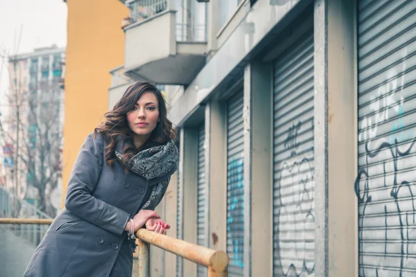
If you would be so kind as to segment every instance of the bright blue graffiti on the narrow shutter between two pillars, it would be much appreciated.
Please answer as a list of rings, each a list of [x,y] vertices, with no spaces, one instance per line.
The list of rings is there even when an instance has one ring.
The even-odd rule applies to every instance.
[[[228,164],[228,215],[227,215],[227,240],[231,242],[232,255],[229,265],[244,267],[244,161],[233,159]]]

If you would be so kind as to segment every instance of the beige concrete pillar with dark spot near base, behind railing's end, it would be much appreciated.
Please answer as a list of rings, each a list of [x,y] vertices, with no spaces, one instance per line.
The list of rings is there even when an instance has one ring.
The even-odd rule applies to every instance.
[[[226,106],[209,102],[209,248],[227,250]]]

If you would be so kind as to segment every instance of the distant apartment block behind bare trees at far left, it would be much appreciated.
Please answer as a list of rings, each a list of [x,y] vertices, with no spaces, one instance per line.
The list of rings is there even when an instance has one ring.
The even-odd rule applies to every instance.
[[[2,120],[6,187],[52,216],[62,198],[64,61],[55,45],[10,57]]]

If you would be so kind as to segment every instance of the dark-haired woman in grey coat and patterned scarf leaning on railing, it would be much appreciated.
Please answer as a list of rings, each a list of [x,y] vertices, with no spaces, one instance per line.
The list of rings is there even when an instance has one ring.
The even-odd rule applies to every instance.
[[[174,140],[159,89],[147,82],[130,86],[87,136],[65,208],[24,276],[131,276],[135,231],[170,228],[153,209],[177,168]]]

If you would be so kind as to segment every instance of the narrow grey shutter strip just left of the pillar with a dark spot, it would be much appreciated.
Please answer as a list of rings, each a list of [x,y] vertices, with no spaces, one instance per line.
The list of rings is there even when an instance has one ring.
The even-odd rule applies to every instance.
[[[198,217],[197,217],[197,235],[198,235],[198,244],[206,246],[206,218],[205,218],[205,125],[200,126],[198,130]],[[198,265],[198,277],[207,276],[207,268]]]

